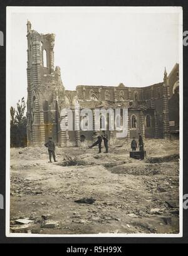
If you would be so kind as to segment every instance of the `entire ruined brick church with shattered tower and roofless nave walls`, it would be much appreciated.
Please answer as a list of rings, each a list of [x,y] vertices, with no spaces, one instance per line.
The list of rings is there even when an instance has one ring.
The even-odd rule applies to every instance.
[[[61,147],[90,144],[98,131],[61,131],[61,110],[80,108],[128,109],[128,136],[166,139],[179,136],[179,64],[161,83],[149,87],[114,87],[78,85],[75,91],[66,90],[61,80],[60,67],[55,67],[55,35],[43,35],[27,24],[28,38],[28,146],[43,146],[53,137]],[[93,127],[95,115],[93,115]],[[65,119],[68,118],[65,113]],[[117,140],[115,131],[106,131],[110,143]],[[122,138],[125,140],[127,138]]]

